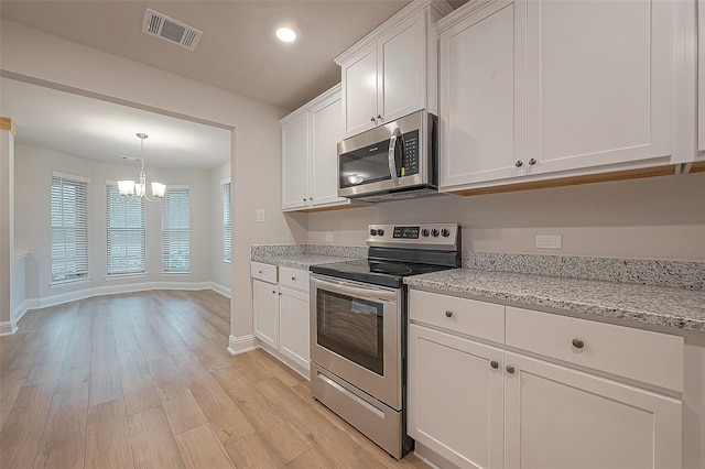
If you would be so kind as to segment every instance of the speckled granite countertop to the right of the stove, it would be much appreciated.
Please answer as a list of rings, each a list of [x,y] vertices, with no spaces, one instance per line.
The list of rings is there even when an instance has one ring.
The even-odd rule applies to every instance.
[[[455,269],[404,279],[411,287],[705,331],[705,291]]]

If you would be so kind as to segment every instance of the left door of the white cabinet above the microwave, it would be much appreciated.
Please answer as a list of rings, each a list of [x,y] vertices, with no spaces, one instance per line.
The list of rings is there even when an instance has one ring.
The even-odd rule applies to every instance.
[[[377,44],[370,44],[341,65],[345,135],[377,126]]]

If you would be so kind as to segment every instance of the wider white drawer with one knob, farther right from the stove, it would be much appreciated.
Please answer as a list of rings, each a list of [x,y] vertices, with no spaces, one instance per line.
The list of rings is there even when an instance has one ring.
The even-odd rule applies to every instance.
[[[507,345],[683,392],[679,336],[507,306]]]

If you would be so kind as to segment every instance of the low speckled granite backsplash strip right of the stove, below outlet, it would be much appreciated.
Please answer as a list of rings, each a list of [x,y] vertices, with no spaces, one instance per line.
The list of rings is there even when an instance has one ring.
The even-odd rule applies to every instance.
[[[705,262],[466,251],[463,265],[484,271],[705,290]]]

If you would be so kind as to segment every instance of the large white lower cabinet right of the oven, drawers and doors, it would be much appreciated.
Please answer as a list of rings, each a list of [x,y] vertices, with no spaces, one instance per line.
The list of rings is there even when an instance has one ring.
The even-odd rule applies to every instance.
[[[682,466],[682,402],[639,388],[631,377],[623,378],[630,381],[626,384],[614,375],[620,361],[634,360],[622,356],[639,350],[646,339],[647,359],[654,347],[664,353],[652,375],[639,375],[640,382],[682,389],[682,338],[498,306],[411,291],[410,436],[462,468]],[[492,323],[506,321],[505,340],[485,343],[489,331],[497,337],[494,327],[484,326],[491,324],[487,320],[476,323],[477,341],[473,330],[463,327],[466,318],[482,314],[497,316]],[[517,349],[522,330],[529,337],[522,342],[527,353]],[[621,343],[625,353],[606,347],[607,338]],[[560,346],[564,342],[565,352]],[[529,357],[542,347],[557,352],[545,359]],[[568,368],[574,366],[571,355],[585,356],[576,358],[575,366],[583,369]],[[603,361],[606,355],[614,360]],[[664,380],[663,367],[669,364],[675,373]]]

